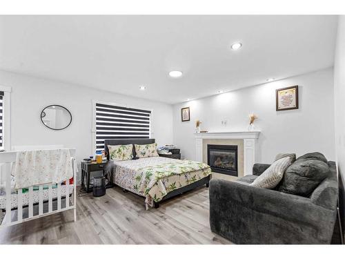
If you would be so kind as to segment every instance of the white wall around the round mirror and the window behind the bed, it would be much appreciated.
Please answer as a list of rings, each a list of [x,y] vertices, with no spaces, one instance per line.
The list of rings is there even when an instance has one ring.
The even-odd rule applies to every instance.
[[[92,155],[92,99],[152,109],[152,137],[156,139],[158,145],[172,143],[172,106],[170,104],[1,70],[0,85],[12,87],[12,146],[64,144],[77,148],[78,162],[89,157]],[[42,124],[41,110],[50,104],[65,106],[72,113],[72,124],[68,128],[52,131]]]

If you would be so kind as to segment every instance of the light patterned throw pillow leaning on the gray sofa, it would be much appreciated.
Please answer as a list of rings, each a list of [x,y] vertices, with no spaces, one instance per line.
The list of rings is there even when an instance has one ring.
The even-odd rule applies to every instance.
[[[274,162],[264,173],[262,173],[262,175],[259,175],[254,182],[249,185],[266,189],[275,188],[282,180],[284,172],[290,164],[290,157],[284,157]]]

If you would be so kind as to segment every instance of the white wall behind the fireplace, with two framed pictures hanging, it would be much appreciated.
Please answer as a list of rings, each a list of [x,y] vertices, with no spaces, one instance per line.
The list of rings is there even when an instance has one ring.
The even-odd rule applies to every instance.
[[[299,109],[275,111],[275,89],[299,86]],[[190,122],[181,122],[181,108],[190,106]],[[333,118],[333,68],[290,77],[259,86],[197,99],[174,106],[174,143],[188,159],[195,159],[195,120],[208,131],[248,129],[248,114],[259,119],[257,162],[273,162],[279,152],[302,155],[311,151],[335,160]],[[227,120],[227,126],[221,125]]]

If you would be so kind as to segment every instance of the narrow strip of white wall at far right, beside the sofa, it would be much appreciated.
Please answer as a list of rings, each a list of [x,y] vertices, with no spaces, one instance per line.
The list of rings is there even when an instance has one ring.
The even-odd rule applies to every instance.
[[[345,16],[339,16],[334,64],[335,149],[339,171],[340,209],[345,228]],[[345,231],[344,231],[345,232]],[[344,234],[345,236],[345,234]]]

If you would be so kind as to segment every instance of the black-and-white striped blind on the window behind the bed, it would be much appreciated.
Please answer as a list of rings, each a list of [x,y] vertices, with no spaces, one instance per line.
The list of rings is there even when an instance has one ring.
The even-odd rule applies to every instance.
[[[96,104],[96,151],[104,140],[150,138],[151,111]]]

